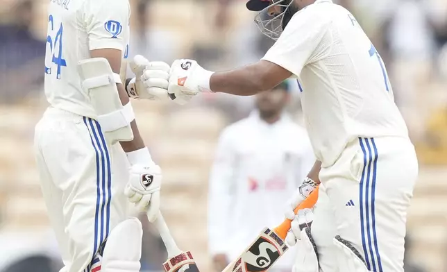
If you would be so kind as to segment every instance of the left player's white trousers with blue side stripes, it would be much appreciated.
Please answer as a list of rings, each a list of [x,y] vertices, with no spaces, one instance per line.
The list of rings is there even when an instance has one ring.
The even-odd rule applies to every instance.
[[[35,126],[35,157],[61,271],[88,272],[111,230],[128,218],[126,153],[106,143],[94,119],[50,107]]]

